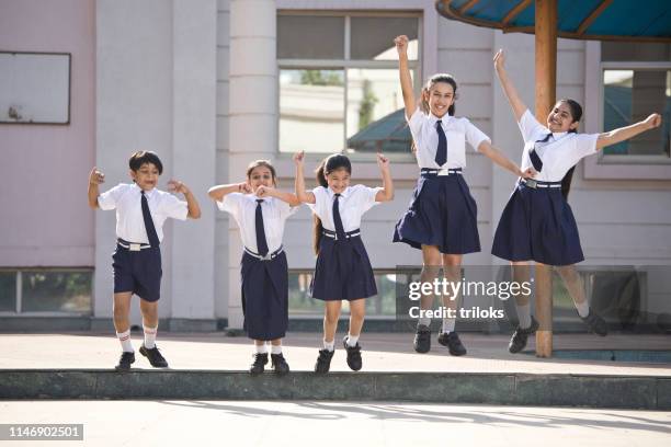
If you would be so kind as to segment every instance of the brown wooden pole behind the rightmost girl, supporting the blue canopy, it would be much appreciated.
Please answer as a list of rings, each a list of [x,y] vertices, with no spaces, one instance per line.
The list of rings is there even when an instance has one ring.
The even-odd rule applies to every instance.
[[[536,119],[545,123],[557,85],[557,0],[536,0]],[[536,264],[536,356],[553,355],[551,267]]]

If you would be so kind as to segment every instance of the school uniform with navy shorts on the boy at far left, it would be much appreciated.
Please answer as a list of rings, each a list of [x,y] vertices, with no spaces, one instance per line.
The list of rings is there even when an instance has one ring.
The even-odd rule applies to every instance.
[[[189,208],[174,195],[121,183],[98,196],[101,209],[116,209],[114,293],[132,291],[146,301],[161,296],[161,249],[168,218],[186,220]]]

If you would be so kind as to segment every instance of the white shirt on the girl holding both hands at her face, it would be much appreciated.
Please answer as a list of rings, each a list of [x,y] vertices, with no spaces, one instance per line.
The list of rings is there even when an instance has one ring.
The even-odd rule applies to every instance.
[[[229,213],[238,227],[240,227],[240,238],[242,244],[254,253],[259,253],[257,247],[257,197],[253,194],[230,193],[224,196],[224,200],[217,202],[220,210]],[[265,232],[265,243],[269,253],[282,247],[284,234],[284,222],[293,215],[298,207],[291,207],[284,200],[275,197],[264,197],[261,203],[261,214],[263,215],[263,231]]]

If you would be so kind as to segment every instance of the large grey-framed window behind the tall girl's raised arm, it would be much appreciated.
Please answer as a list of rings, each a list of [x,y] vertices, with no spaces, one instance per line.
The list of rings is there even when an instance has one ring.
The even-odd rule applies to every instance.
[[[380,148],[356,138],[380,118],[399,119],[389,116],[403,106],[393,42],[399,34],[410,39],[418,79],[419,14],[280,12],[280,151],[409,151],[409,140]]]

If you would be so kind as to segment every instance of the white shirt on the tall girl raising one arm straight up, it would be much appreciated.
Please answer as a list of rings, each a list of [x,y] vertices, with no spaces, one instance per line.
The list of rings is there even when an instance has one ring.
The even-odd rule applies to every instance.
[[[417,147],[417,163],[420,168],[455,169],[466,168],[466,142],[478,150],[480,142],[491,141],[485,133],[470,124],[467,118],[455,118],[444,115],[442,118],[433,114],[425,115],[420,107],[408,119],[410,133]],[[441,119],[441,126],[447,139],[447,162],[442,167],[435,162],[437,151],[437,130],[435,124]]]

